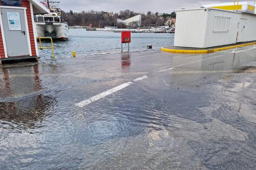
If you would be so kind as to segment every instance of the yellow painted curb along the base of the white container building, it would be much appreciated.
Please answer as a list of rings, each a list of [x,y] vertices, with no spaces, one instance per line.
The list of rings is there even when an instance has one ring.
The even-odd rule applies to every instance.
[[[227,50],[231,48],[236,48],[236,47],[243,47],[243,46],[248,46],[248,45],[254,45],[256,42],[253,43],[246,43],[246,44],[240,44],[240,45],[232,45],[228,47],[221,47],[221,48],[214,48],[214,49],[209,49],[209,50],[179,50],[179,49],[168,49],[162,47],[161,50],[165,52],[174,52],[174,53],[212,53],[212,52],[217,52],[221,50]]]

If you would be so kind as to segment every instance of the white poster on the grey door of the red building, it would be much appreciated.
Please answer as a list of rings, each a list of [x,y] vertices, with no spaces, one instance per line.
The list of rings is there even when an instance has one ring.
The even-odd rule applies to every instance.
[[[20,31],[20,13],[19,12],[7,12],[7,18],[10,31]]]

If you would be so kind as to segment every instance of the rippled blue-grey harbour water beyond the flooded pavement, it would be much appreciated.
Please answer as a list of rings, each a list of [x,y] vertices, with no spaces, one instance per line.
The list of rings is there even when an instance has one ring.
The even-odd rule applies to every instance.
[[[54,42],[56,57],[65,58],[72,56],[72,51],[77,55],[105,55],[121,52],[121,33],[104,31],[69,30],[70,37],[67,42]],[[163,46],[173,45],[174,34],[170,33],[131,33],[130,52],[147,50],[147,45],[153,45],[153,50],[160,50]],[[49,46],[49,42],[42,45]],[[124,51],[128,45],[123,44]],[[39,50],[40,57],[49,59],[50,49]]]

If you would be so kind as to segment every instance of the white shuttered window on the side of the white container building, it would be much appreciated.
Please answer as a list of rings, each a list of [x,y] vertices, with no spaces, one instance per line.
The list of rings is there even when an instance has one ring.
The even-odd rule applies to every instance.
[[[213,32],[228,32],[230,28],[230,17],[216,16],[214,21]]]

